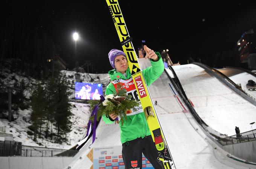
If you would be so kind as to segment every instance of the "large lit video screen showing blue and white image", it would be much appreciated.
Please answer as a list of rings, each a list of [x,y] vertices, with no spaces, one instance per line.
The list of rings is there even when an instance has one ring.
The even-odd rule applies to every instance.
[[[99,100],[102,95],[102,84],[75,83],[75,99]]]

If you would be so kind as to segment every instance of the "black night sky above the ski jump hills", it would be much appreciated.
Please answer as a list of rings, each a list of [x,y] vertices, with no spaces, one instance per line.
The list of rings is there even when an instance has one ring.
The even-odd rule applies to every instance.
[[[256,31],[256,2],[169,3],[119,1],[136,52],[145,40],[154,51],[169,49],[173,63],[186,64],[189,57],[198,61],[215,52],[233,49],[242,33],[251,28]],[[3,27],[7,20],[12,20],[46,31],[61,49],[59,55],[68,69],[73,69],[76,61],[79,66],[91,61],[96,63],[97,72],[106,73],[112,68],[108,52],[122,49],[105,0],[4,1],[1,9]],[[80,36],[76,48],[72,38],[75,31]]]

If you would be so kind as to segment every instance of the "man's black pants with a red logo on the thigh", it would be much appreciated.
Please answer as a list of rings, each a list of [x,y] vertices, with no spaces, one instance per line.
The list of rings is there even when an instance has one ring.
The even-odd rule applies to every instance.
[[[142,169],[142,153],[155,169],[162,169],[157,160],[158,154],[151,136],[137,138],[122,144],[122,156],[125,169]]]

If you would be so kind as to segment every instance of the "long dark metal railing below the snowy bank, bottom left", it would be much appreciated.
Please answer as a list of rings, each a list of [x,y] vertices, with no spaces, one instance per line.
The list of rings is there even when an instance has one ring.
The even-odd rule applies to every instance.
[[[73,157],[78,150],[33,147],[21,145],[21,142],[0,141],[0,156],[14,157]]]

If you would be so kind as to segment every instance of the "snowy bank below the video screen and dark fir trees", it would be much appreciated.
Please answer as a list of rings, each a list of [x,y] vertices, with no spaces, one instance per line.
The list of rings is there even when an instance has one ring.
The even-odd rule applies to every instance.
[[[76,102],[70,103],[72,104],[71,112],[73,114],[70,121],[72,121],[73,125],[71,132],[67,136],[68,142],[63,142],[62,144],[54,143],[50,139],[45,139],[44,133],[42,133],[43,138],[37,137],[37,142],[33,141],[33,136],[27,135],[27,131],[29,131],[28,126],[32,125],[29,121],[31,109],[26,109],[24,111],[19,110],[18,118],[12,122],[9,122],[6,119],[0,119],[0,126],[5,126],[6,133],[12,134],[14,136],[14,141],[22,142],[22,145],[70,149],[85,135],[90,116],[88,104]]]

